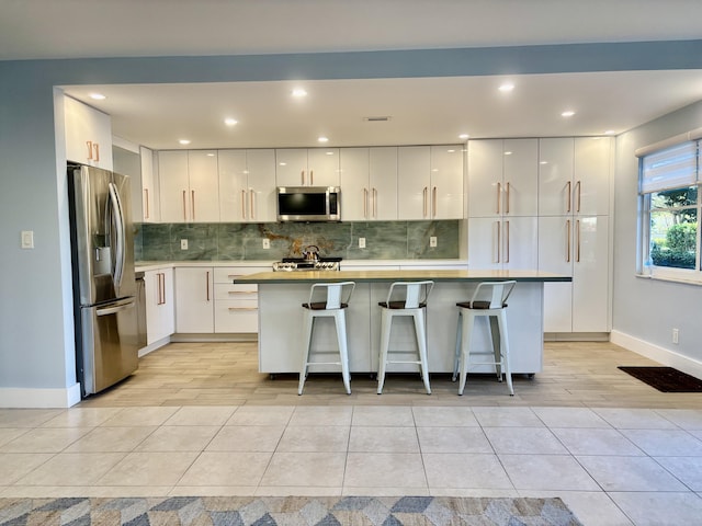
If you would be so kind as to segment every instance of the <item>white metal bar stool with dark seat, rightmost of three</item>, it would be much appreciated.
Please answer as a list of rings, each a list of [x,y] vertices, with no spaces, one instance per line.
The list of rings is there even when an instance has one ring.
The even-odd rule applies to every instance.
[[[460,365],[460,396],[463,396],[468,369],[474,365],[494,365],[499,381],[502,381],[502,371],[505,371],[509,395],[511,397],[514,396],[514,389],[512,388],[512,373],[509,364],[507,298],[512,293],[516,284],[517,282],[514,281],[483,282],[475,288],[469,301],[456,304],[456,307],[458,307],[458,327],[456,330],[456,354],[453,366],[453,381],[456,379]],[[488,317],[490,321],[492,351],[473,352],[471,350],[471,336],[473,335],[475,318],[480,316]],[[472,362],[471,355],[491,356],[492,359],[488,362]]]

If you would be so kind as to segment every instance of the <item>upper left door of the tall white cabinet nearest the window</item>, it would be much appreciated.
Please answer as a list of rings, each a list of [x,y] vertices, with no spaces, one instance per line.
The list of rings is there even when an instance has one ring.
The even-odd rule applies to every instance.
[[[571,138],[539,139],[539,215],[573,214]]]

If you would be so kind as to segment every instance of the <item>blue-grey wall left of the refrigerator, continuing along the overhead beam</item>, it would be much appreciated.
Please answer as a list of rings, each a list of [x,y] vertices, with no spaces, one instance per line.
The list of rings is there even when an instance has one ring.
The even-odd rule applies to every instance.
[[[691,68],[702,68],[702,41],[0,62],[0,404],[3,389],[60,390],[75,384],[65,152],[56,147],[63,144],[60,126],[58,137],[54,126],[56,85]],[[60,108],[57,113],[60,124]],[[34,250],[20,249],[22,230],[34,230]]]

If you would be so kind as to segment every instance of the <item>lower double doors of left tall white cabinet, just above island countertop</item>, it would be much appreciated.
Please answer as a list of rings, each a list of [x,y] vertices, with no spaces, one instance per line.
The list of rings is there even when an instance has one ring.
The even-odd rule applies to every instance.
[[[535,217],[469,218],[468,266],[482,270],[536,268],[537,226]]]

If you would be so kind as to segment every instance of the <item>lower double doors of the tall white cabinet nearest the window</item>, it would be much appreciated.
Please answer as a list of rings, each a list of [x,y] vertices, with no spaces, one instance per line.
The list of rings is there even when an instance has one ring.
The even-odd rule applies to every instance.
[[[539,219],[539,270],[571,276],[544,285],[544,332],[609,332],[609,217]]]

